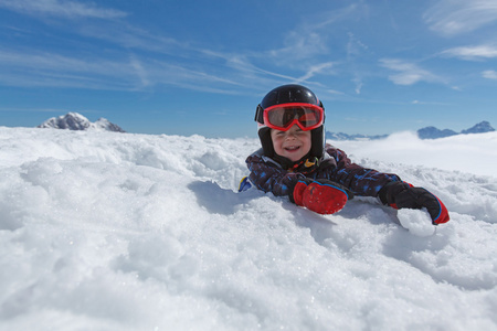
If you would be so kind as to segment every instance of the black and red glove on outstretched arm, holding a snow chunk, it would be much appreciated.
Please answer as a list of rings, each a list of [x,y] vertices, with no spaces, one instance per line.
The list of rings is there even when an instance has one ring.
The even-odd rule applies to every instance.
[[[421,210],[425,207],[434,225],[451,220],[444,203],[423,188],[414,188],[405,182],[390,182],[378,194],[383,204],[394,209]]]

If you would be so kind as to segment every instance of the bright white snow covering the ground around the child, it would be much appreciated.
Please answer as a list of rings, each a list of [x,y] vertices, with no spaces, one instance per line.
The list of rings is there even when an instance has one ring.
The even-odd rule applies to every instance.
[[[497,330],[496,141],[330,141],[435,193],[434,227],[235,193],[252,138],[0,127],[0,329]]]

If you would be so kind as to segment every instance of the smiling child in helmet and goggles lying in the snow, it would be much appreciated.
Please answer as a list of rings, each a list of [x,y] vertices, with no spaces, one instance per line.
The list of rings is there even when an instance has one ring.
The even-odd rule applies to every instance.
[[[246,163],[258,190],[288,196],[319,214],[340,211],[356,194],[379,197],[395,209],[425,207],[433,224],[448,222],[445,205],[425,189],[396,174],[362,168],[342,150],[325,145],[325,109],[307,87],[274,88],[257,106],[255,120],[262,149]]]

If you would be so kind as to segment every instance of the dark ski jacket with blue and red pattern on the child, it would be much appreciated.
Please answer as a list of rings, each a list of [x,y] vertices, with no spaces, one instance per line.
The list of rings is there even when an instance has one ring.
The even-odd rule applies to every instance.
[[[339,183],[359,196],[378,196],[378,192],[387,184],[401,179],[393,173],[383,173],[362,168],[347,157],[346,152],[327,143],[325,157],[309,171],[285,170],[281,163],[263,156],[260,149],[252,153],[246,163],[251,174],[250,181],[264,192],[276,196],[293,194],[293,188],[300,178],[327,179]]]

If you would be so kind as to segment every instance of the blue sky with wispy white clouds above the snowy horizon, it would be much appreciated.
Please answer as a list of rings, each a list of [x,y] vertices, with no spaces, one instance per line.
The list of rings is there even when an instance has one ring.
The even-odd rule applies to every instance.
[[[0,0],[0,126],[256,137],[262,97],[298,83],[328,131],[497,127],[496,28],[495,0]]]

